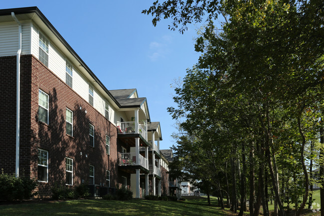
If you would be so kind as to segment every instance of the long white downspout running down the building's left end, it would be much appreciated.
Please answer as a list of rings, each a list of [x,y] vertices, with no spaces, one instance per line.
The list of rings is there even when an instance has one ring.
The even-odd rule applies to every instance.
[[[18,51],[17,51],[17,92],[16,92],[16,168],[15,175],[19,176],[19,146],[20,146],[20,53],[21,53],[21,23],[18,21],[14,12],[11,16],[18,24]]]

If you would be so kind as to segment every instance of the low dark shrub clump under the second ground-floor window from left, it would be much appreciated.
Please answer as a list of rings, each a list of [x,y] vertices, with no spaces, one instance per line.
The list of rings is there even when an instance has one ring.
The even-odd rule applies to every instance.
[[[55,186],[51,188],[51,191],[53,200],[77,199],[90,195],[89,188],[84,184],[76,186],[74,189],[67,188],[62,183],[60,185],[55,184]]]

